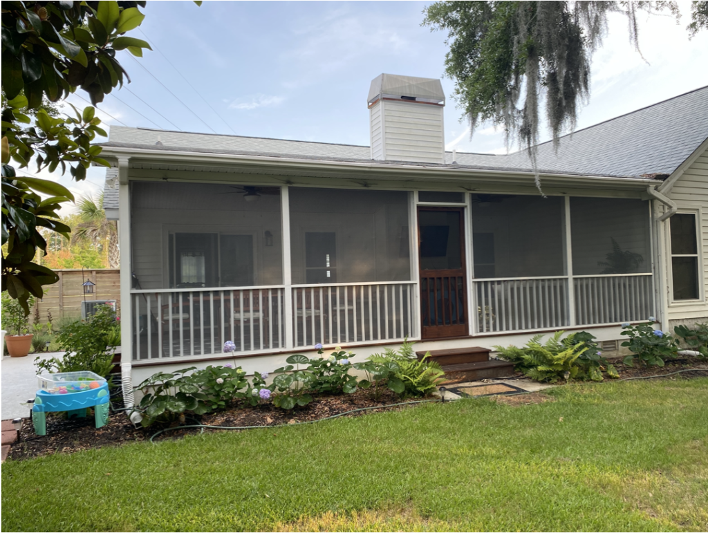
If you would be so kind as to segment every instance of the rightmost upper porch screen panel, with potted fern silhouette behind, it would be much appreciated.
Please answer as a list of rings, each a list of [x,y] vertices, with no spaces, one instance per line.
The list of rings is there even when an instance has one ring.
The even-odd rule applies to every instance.
[[[571,198],[573,275],[651,273],[649,207],[625,198]]]

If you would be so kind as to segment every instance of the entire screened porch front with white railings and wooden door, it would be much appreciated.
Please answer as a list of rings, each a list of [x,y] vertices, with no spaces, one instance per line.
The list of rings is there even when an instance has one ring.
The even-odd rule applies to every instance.
[[[130,212],[138,361],[653,311],[641,200],[135,181]]]

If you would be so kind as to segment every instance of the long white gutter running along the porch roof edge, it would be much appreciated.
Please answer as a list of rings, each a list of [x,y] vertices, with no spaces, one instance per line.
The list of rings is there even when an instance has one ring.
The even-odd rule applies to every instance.
[[[122,147],[103,147],[103,156],[130,156],[131,159],[142,159],[144,156],[150,156],[153,159],[167,161],[183,161],[186,160],[191,164],[197,161],[205,161],[211,164],[232,165],[238,161],[241,164],[256,164],[263,166],[265,164],[278,164],[291,168],[308,168],[316,166],[326,170],[364,170],[369,171],[389,171],[392,173],[406,172],[422,172],[425,171],[428,176],[430,172],[438,172],[442,176],[450,178],[450,174],[459,176],[460,174],[473,174],[474,176],[500,176],[512,178],[534,178],[535,173],[532,171],[502,171],[493,169],[476,169],[476,168],[450,168],[440,166],[427,166],[425,164],[380,164],[375,161],[322,161],[319,159],[297,159],[289,157],[273,157],[273,156],[245,156],[239,154],[204,154],[194,151],[165,151],[151,149],[135,149]],[[202,163],[203,164],[203,163]],[[578,174],[561,174],[561,173],[542,173],[542,177],[546,180],[572,180],[572,181],[604,181],[608,183],[622,183],[623,185],[636,185],[638,187],[646,187],[647,185],[656,184],[656,180],[651,178],[620,178],[617,176],[583,176]],[[459,176],[462,178],[462,176]]]

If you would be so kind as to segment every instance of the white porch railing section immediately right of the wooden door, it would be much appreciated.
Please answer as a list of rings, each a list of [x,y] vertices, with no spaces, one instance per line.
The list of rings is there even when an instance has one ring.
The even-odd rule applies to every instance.
[[[473,280],[477,333],[561,328],[570,323],[567,277]]]

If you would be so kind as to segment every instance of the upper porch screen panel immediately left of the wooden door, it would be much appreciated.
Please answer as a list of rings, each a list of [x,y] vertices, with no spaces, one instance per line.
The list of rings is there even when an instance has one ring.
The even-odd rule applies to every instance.
[[[292,282],[411,280],[408,193],[290,188]]]

